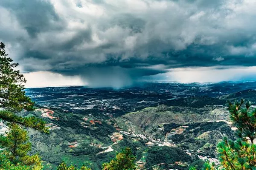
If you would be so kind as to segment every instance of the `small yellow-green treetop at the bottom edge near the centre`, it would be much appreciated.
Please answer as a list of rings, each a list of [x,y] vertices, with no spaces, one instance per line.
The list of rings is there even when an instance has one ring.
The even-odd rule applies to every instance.
[[[125,148],[116,155],[109,163],[103,164],[103,170],[136,170],[136,157],[130,148]]]

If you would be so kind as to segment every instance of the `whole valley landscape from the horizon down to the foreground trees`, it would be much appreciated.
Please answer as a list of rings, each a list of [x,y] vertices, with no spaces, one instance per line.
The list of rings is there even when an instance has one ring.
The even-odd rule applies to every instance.
[[[47,122],[50,134],[28,129],[32,153],[40,153],[45,169],[56,169],[64,160],[99,170],[116,152],[130,147],[141,170],[185,170],[206,159],[218,163],[218,141],[235,138],[227,99],[255,102],[253,89],[256,82],[31,88],[26,94],[37,109],[20,114]]]

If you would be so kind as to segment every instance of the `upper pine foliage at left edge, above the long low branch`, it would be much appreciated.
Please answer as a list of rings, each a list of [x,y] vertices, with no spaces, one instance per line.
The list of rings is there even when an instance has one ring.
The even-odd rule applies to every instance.
[[[0,42],[0,108],[8,111],[33,110],[32,100],[25,95],[26,79],[20,71],[15,70],[18,63],[8,57],[5,45]]]

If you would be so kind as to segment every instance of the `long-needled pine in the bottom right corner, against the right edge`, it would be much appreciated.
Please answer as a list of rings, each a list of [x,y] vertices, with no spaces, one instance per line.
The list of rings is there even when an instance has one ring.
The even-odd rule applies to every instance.
[[[250,102],[234,104],[229,102],[228,109],[233,125],[237,127],[238,139],[232,141],[224,137],[218,143],[217,152],[220,164],[206,162],[205,170],[256,170],[256,108],[251,107]],[[190,170],[195,170],[191,167]]]

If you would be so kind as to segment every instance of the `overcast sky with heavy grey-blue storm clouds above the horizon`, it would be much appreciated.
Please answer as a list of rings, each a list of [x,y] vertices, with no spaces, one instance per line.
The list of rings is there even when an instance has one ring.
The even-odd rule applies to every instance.
[[[256,80],[255,0],[0,0],[26,87]]]

